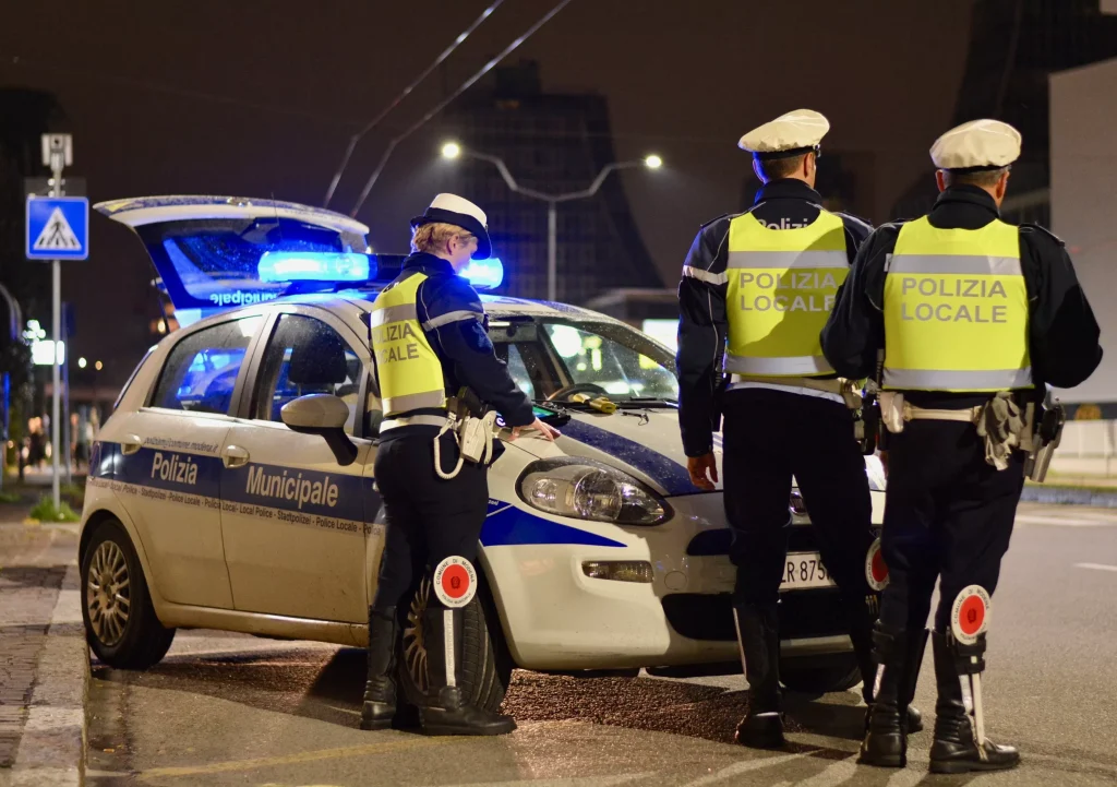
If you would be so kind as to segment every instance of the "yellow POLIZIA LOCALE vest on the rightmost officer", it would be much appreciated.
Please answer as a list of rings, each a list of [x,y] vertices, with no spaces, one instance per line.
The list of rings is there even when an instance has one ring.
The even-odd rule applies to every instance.
[[[1032,387],[1020,231],[900,228],[885,276],[884,387],[984,392]]]

